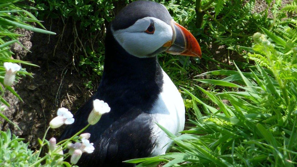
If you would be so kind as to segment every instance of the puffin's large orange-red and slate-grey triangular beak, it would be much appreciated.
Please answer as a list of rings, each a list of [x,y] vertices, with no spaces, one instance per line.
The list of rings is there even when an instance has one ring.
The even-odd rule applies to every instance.
[[[166,42],[163,46],[171,44],[169,49],[166,50],[170,54],[180,54],[185,56],[195,56],[201,58],[201,49],[195,37],[183,26],[175,21],[171,21],[173,30],[172,41]]]

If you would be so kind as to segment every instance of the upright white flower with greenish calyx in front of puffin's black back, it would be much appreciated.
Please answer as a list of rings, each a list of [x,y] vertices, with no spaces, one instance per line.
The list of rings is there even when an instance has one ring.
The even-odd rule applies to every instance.
[[[94,100],[93,106],[94,108],[88,117],[88,122],[91,125],[96,124],[100,120],[102,114],[108,113],[110,111],[110,107],[107,103],[104,103],[103,100]]]

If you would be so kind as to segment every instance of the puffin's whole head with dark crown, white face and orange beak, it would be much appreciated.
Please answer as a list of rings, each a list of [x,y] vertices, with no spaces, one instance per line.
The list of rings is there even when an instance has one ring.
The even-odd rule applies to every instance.
[[[110,29],[117,42],[136,57],[153,57],[166,51],[201,58],[195,37],[156,2],[132,2],[119,12]]]

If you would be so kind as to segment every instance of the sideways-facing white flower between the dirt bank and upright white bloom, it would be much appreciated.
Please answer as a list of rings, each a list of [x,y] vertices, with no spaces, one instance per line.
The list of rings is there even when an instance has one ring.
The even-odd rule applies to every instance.
[[[54,117],[54,119],[52,119],[50,122],[51,128],[57,128],[63,124],[72,124],[74,122],[72,113],[66,108],[59,108],[57,115],[58,116]]]

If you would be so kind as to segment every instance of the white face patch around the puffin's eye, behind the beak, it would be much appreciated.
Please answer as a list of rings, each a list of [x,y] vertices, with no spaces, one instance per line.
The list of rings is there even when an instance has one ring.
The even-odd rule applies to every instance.
[[[152,26],[154,31],[152,33]],[[145,17],[137,20],[132,26],[114,31],[118,43],[131,55],[136,57],[153,57],[154,53],[166,42],[172,41],[172,27],[160,19]]]

